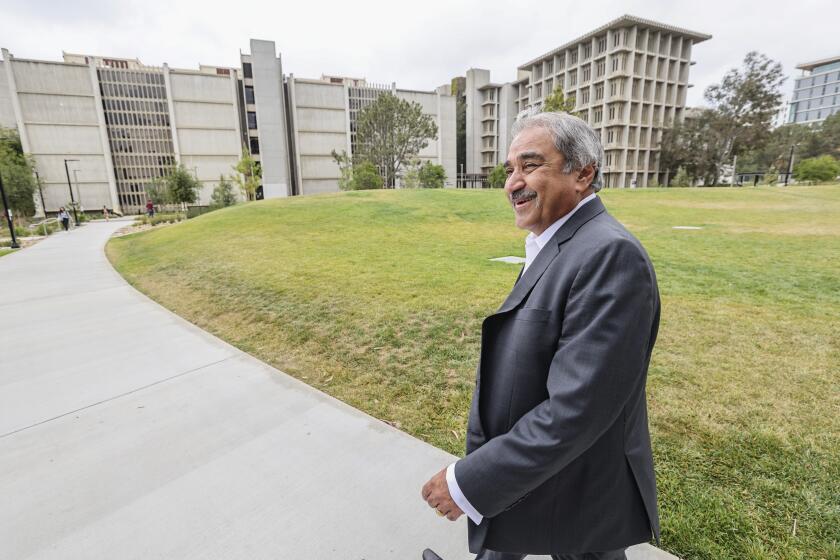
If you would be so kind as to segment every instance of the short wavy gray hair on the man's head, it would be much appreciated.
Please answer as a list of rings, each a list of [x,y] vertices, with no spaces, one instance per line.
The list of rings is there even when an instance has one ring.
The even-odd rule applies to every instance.
[[[528,128],[544,128],[554,141],[554,147],[563,154],[566,164],[564,173],[583,169],[587,165],[595,167],[595,177],[591,187],[595,192],[604,186],[601,162],[604,161],[604,147],[601,138],[586,121],[569,113],[540,113],[535,110],[522,111],[511,128],[511,138]]]

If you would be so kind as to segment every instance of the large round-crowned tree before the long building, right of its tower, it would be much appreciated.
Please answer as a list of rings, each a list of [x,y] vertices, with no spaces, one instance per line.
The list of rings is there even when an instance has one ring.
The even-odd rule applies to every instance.
[[[356,120],[354,159],[371,162],[383,174],[385,186],[393,188],[402,166],[437,139],[437,125],[423,113],[419,103],[382,93],[359,111]]]

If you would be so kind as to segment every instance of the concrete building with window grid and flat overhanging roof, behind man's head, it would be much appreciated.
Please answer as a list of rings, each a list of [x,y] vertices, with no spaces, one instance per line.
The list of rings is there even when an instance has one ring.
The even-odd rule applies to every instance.
[[[518,113],[541,106],[558,86],[574,113],[600,132],[608,187],[647,186],[659,173],[662,130],[683,119],[692,46],[710,35],[622,16],[517,68],[517,80],[490,83],[467,73],[467,173],[487,172],[510,145]]]

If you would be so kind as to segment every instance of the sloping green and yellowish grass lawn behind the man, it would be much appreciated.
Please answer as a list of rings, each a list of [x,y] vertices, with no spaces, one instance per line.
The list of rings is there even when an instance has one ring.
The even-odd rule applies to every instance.
[[[602,198],[662,293],[662,547],[840,558],[840,187]],[[367,191],[241,205],[108,254],[179,315],[460,455],[481,320],[518,273],[488,259],[524,255],[523,239],[500,191]]]

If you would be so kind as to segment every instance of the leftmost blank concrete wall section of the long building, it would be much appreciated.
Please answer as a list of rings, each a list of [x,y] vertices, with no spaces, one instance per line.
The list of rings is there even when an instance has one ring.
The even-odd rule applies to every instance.
[[[0,115],[8,122],[11,109],[24,149],[35,159],[47,211],[55,212],[70,201],[65,159],[79,160],[68,162],[68,168],[74,198],[81,200],[82,208],[113,208],[96,86],[89,67],[10,58],[2,70],[0,84],[5,87]],[[20,108],[19,118],[13,98]]]

